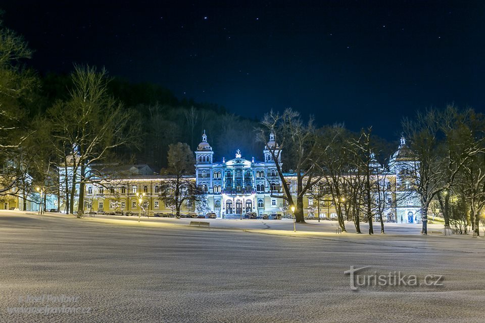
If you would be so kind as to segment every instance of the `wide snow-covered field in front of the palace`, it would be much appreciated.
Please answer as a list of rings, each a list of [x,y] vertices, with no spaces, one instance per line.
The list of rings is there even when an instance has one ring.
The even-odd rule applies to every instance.
[[[440,225],[369,237],[350,222],[337,235],[331,221],[294,233],[289,220],[194,220],[211,227],[0,211],[0,322],[485,322],[483,238],[443,237]],[[418,284],[352,291],[350,266]],[[17,313],[27,310],[79,312]]]

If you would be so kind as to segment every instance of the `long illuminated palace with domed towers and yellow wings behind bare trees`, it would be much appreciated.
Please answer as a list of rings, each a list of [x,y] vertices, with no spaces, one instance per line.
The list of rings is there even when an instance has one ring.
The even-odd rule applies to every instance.
[[[268,146],[279,151],[274,133],[270,133]],[[288,213],[283,195],[281,179],[272,159],[270,151],[263,149],[264,160],[257,161],[244,158],[236,150],[233,159],[214,161],[214,151],[210,146],[204,131],[202,142],[195,151],[196,174],[187,176],[196,181],[206,195],[205,212],[214,212],[218,218],[239,218],[254,212],[257,215],[277,214],[284,216]],[[386,221],[399,223],[416,223],[421,220],[421,206],[419,197],[413,191],[409,171],[415,166],[404,138],[401,139],[396,153],[391,157],[389,169],[384,169],[372,156],[372,168],[379,173],[381,180],[388,188],[381,197],[385,207],[383,217]],[[279,165],[282,166],[281,162]],[[105,212],[139,212],[138,195],[143,194],[143,212],[173,213],[173,209],[164,205],[160,198],[160,182],[171,178],[170,175],[157,175],[148,165],[99,165],[93,166],[89,172],[98,174],[92,183],[85,186],[85,210]],[[108,176],[108,174],[111,174]],[[295,173],[283,174],[290,190],[295,192],[293,180]],[[68,176],[72,176],[72,170]],[[349,174],[348,176],[354,176]],[[61,178],[61,188],[62,179]],[[78,196],[78,185],[75,187],[75,196]],[[61,190],[62,192],[62,190]],[[320,217],[336,217],[335,207],[325,202],[328,199],[317,201],[308,195],[304,198],[304,214],[318,216],[317,206],[320,203]],[[63,198],[61,196],[61,201]],[[328,203],[328,204],[327,204]],[[61,202],[61,205],[65,203]],[[77,204],[77,199],[75,204]],[[62,209],[62,208],[61,208]],[[75,209],[77,209],[75,207]],[[189,201],[182,205],[181,212],[196,212],[196,205]],[[200,211],[199,211],[200,212]]]

